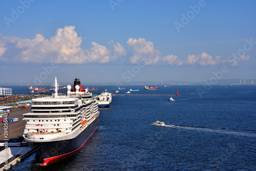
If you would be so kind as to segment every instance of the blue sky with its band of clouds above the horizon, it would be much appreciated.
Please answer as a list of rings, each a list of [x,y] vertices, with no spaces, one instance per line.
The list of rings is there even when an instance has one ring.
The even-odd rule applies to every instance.
[[[255,79],[255,5],[1,1],[0,83]]]

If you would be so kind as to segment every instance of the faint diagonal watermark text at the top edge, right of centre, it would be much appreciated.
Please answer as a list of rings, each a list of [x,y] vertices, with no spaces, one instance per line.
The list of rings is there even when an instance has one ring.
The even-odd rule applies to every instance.
[[[191,19],[195,18],[196,14],[198,14],[201,11],[201,8],[204,8],[206,6],[206,3],[204,0],[199,0],[198,1],[198,5],[195,6],[189,6],[189,8],[191,9],[190,11],[188,11],[185,14],[181,14],[181,20],[180,23],[179,22],[174,22],[174,26],[176,28],[176,30],[178,31],[178,33],[180,32],[180,28],[184,28]]]

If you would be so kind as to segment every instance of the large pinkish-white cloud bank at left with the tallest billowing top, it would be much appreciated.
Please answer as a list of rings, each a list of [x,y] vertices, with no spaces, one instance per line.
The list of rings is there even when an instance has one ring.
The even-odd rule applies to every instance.
[[[2,36],[0,39],[0,60],[12,59],[23,62],[50,62],[57,63],[107,63],[126,55],[125,49],[114,43],[114,51],[111,52],[105,46],[92,42],[92,48],[81,49],[82,39],[77,36],[74,26],[59,28],[53,37],[45,39],[37,34],[33,39],[21,39],[18,37]],[[12,48],[19,51],[17,56],[3,55],[6,44],[12,44]]]

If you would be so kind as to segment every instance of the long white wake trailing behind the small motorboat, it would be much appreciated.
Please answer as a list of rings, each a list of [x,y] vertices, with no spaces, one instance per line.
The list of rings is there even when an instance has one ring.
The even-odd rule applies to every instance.
[[[238,131],[229,131],[227,129],[221,128],[218,129],[209,129],[204,127],[193,127],[193,126],[178,126],[178,125],[164,125],[166,127],[172,127],[178,130],[191,130],[191,131],[200,131],[200,132],[210,132],[210,133],[218,133],[218,134],[229,134],[229,135],[237,135],[237,136],[245,136],[245,137],[253,137],[256,138],[255,133],[246,133],[246,132],[238,132]]]

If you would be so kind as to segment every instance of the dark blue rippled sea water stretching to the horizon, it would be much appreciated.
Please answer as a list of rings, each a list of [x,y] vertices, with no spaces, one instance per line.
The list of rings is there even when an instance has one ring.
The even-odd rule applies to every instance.
[[[115,86],[94,88],[94,94],[114,93]],[[176,95],[179,90],[181,96],[172,102],[170,96],[113,96],[111,107],[100,109],[98,129],[78,152],[47,166],[39,166],[32,154],[12,170],[256,169],[256,86],[124,88],[118,94],[139,89],[132,94]],[[157,120],[165,126],[152,125]]]

